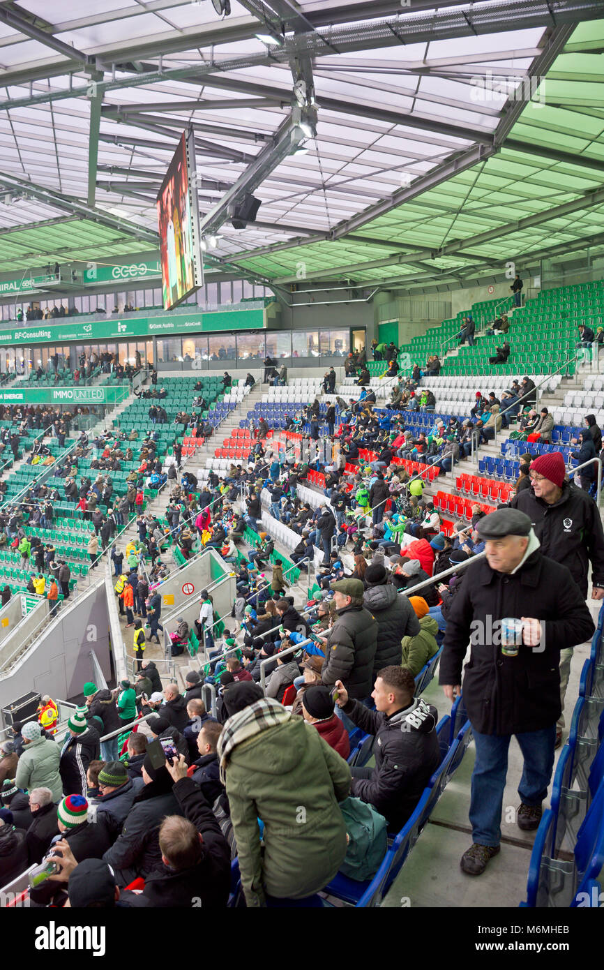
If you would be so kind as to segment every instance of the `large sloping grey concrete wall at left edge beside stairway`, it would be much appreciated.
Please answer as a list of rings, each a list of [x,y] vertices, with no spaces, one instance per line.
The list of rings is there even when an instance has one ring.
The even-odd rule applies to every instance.
[[[61,609],[14,670],[0,680],[0,707],[28,691],[63,700],[81,695],[83,684],[92,679],[90,650],[96,653],[109,683],[109,614],[102,582]]]

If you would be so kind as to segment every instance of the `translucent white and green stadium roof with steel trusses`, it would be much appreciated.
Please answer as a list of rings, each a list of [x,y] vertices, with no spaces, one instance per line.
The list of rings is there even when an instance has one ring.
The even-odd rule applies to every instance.
[[[0,271],[156,246],[190,127],[230,275],[404,287],[604,251],[601,0],[225,7],[0,2]]]

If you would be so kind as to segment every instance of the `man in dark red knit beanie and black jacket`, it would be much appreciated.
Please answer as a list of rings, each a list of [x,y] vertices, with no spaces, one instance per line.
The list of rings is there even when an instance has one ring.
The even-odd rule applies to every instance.
[[[559,451],[539,455],[530,463],[530,484],[510,505],[530,517],[544,556],[570,569],[586,599],[591,564],[591,598],[604,598],[604,532],[596,503],[567,479]],[[572,656],[572,648],[560,651],[562,711]],[[556,725],[556,748],[561,744],[563,727],[562,713]]]

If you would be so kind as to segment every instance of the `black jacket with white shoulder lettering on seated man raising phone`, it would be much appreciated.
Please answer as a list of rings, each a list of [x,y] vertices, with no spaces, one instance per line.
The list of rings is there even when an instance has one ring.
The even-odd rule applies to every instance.
[[[344,712],[375,735],[375,767],[370,778],[353,778],[351,795],[369,802],[397,832],[412,815],[429,777],[440,762],[438,712],[422,698],[391,717],[349,700]]]

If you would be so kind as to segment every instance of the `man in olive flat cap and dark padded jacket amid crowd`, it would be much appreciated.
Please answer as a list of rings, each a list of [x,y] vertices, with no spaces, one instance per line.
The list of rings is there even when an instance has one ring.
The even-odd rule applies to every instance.
[[[364,609],[365,586],[361,579],[338,579],[332,583],[335,621],[326,634],[322,682],[334,687],[341,680],[350,697],[363,700],[373,687],[373,660],[377,647],[377,620]],[[340,715],[340,709],[336,708]],[[346,720],[342,717],[344,726]]]

